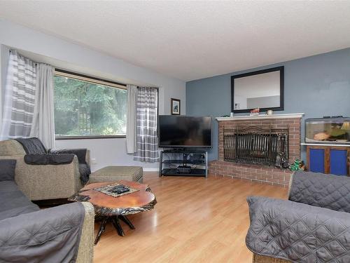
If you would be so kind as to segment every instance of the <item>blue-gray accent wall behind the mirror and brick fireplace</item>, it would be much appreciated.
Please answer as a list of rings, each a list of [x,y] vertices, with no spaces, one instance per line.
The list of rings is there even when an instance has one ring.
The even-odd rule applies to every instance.
[[[350,48],[246,69],[186,83],[186,114],[223,116],[231,112],[231,81],[236,74],[284,66],[284,111],[304,112],[304,119],[322,116],[350,116]],[[245,114],[237,114],[245,115]],[[304,141],[302,119],[302,142]],[[209,159],[218,159],[218,123],[214,121],[213,149]],[[306,161],[302,147],[302,159]]]

